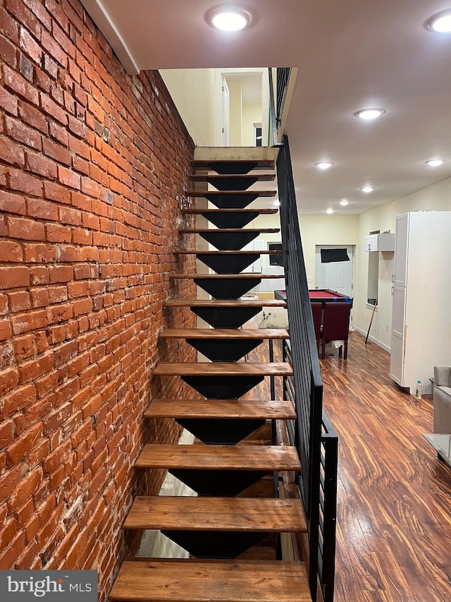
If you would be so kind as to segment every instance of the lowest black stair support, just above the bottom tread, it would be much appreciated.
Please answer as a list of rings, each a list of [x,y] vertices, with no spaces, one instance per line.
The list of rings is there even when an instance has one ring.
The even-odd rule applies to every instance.
[[[214,528],[214,525],[211,526]],[[195,558],[236,558],[256,543],[264,539],[268,533],[261,531],[168,531],[161,530],[163,535],[175,541]]]

